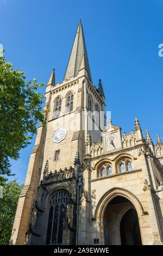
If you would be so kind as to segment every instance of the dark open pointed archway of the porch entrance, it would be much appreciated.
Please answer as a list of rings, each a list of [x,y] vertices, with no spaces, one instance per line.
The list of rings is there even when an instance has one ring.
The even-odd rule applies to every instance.
[[[134,205],[126,197],[114,197],[105,208],[105,245],[142,245],[139,220]]]

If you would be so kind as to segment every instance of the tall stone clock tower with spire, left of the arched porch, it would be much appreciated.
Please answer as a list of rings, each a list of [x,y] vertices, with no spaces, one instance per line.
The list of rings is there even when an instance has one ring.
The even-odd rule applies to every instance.
[[[46,126],[38,127],[30,155],[12,229],[14,245],[68,245],[78,240],[78,200],[84,186],[88,189],[82,164],[86,145],[89,137],[101,141],[105,125],[105,96],[101,80],[98,88],[92,84],[81,21],[64,80],[56,84],[53,69],[45,96],[44,109],[50,111]]]

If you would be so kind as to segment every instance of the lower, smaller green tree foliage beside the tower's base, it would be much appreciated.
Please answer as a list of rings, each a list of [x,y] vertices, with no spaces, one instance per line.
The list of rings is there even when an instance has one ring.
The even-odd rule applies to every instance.
[[[24,184],[15,180],[0,182],[3,187],[3,198],[0,198],[0,245],[8,245],[16,214],[18,198]]]

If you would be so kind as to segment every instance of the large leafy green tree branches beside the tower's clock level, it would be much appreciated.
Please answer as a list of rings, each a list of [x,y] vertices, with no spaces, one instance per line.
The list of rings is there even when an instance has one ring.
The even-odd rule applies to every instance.
[[[0,175],[12,175],[9,157],[17,160],[19,151],[30,144],[37,132],[36,124],[46,124],[41,111],[43,95],[35,92],[43,83],[26,82],[24,72],[14,70],[0,56]]]

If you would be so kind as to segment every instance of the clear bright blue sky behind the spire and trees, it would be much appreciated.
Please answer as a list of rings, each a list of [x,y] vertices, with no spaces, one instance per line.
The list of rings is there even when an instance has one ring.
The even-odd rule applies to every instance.
[[[112,124],[129,133],[137,117],[155,144],[156,135],[163,141],[162,14],[163,0],[0,0],[0,44],[27,80],[46,84],[55,68],[61,82],[81,18],[92,81],[102,80]],[[10,179],[25,181],[31,142],[11,161]]]

